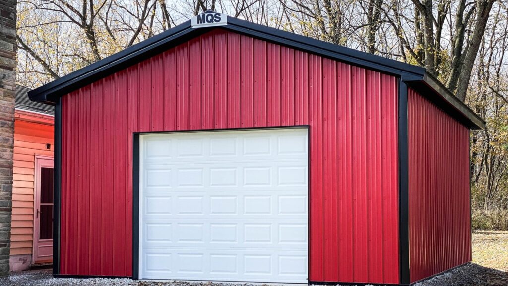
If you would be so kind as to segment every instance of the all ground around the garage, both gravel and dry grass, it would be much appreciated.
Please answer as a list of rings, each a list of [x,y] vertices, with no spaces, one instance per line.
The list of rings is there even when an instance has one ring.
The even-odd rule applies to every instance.
[[[473,261],[414,286],[508,286],[508,232],[475,232]],[[249,286],[248,283],[136,281],[128,278],[53,278],[50,269],[12,273],[1,286]],[[259,284],[257,285],[259,286]]]

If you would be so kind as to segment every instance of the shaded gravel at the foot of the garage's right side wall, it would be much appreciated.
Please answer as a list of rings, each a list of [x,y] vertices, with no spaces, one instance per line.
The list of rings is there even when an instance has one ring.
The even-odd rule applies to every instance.
[[[508,272],[469,263],[414,286],[507,286]]]

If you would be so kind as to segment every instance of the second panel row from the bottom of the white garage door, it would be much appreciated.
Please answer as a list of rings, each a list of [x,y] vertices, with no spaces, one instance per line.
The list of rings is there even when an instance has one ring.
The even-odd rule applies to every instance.
[[[295,248],[307,244],[302,219],[146,219],[143,247]],[[221,246],[222,245],[222,246]]]

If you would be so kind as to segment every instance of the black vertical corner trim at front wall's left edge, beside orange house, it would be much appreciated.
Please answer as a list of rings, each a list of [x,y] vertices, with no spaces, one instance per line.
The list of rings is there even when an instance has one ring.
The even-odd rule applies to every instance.
[[[61,98],[55,105],[53,173],[53,276],[60,273]]]

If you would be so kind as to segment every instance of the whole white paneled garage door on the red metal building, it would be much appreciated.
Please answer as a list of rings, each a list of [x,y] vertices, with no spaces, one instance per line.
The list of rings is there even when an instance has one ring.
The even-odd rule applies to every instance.
[[[142,135],[140,278],[307,282],[307,130]]]

